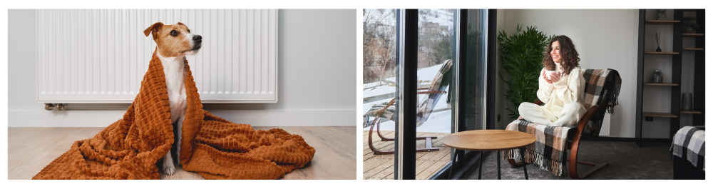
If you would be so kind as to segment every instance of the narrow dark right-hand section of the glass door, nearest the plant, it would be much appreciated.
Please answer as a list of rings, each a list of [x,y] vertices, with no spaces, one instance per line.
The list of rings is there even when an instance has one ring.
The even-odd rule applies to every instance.
[[[453,131],[494,128],[495,107],[495,24],[496,11],[461,9],[458,11],[458,57],[461,59],[454,76],[458,85],[458,111]],[[432,179],[461,179],[481,160],[475,151],[453,150],[456,160],[449,163]],[[452,170],[452,171],[451,171]]]

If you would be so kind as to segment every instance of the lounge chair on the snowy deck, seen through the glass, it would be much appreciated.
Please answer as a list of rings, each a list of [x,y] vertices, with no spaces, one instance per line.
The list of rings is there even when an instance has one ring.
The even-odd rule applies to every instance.
[[[416,127],[421,126],[421,124],[425,123],[426,120],[428,120],[429,116],[431,115],[431,112],[434,111],[434,106],[436,106],[436,103],[441,98],[443,93],[446,93],[446,88],[448,86],[448,83],[450,83],[448,82],[450,81],[450,78],[446,78],[446,80],[444,80],[444,76],[450,76],[450,74],[446,73],[448,73],[448,71],[451,71],[451,64],[451,60],[443,61],[443,66],[441,66],[441,69],[438,71],[438,73],[436,73],[434,80],[431,81],[431,86],[429,86],[428,88],[417,88],[417,90],[419,91],[417,92],[417,94],[427,94],[429,98],[426,98],[426,100],[420,103],[417,107]],[[393,98],[388,103],[375,104],[374,106],[371,106],[371,109],[369,109],[366,114],[364,114],[364,126],[371,126],[369,128],[369,148],[376,155],[394,153],[394,150],[379,150],[374,148],[374,143],[371,140],[371,135],[374,131],[374,125],[376,125],[376,134],[379,136],[379,138],[381,138],[381,141],[394,141],[394,138],[387,138],[381,135],[381,132],[379,131],[379,126],[381,124],[381,118],[388,118],[391,121],[394,121],[394,119],[396,119],[396,116],[394,116],[395,108],[394,106],[391,106],[394,104],[395,101],[396,98]],[[369,121],[370,117],[374,117],[374,120]],[[434,148],[431,145],[431,140],[436,138],[436,136],[416,137],[416,140],[426,140],[426,148],[417,148],[416,152],[438,151],[438,148]]]

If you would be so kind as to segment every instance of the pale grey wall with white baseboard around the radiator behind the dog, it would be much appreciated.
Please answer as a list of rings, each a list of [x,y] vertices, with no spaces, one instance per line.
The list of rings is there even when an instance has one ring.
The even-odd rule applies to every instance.
[[[204,104],[252,126],[356,126],[361,83],[356,10],[279,10],[277,103]],[[45,111],[35,93],[35,11],[8,11],[10,127],[104,127],[128,104],[68,104]],[[204,52],[205,53],[205,52]],[[148,61],[148,60],[147,60]],[[359,85],[360,86],[360,85]]]

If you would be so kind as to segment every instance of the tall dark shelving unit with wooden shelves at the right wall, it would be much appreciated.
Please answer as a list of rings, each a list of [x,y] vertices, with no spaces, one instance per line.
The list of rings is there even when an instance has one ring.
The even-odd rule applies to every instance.
[[[637,59],[637,73],[639,74],[639,83],[637,83],[639,90],[637,91],[637,96],[636,98],[639,99],[640,101],[639,104],[637,104],[637,111],[636,113],[640,115],[640,117],[637,118],[636,124],[635,124],[635,132],[637,136],[637,145],[639,147],[642,147],[642,134],[645,134],[642,132],[642,130],[646,130],[645,126],[651,125],[651,124],[646,124],[645,121],[655,121],[655,122],[650,122],[650,123],[658,123],[656,125],[661,125],[662,127],[657,127],[657,128],[650,128],[654,129],[654,133],[660,132],[660,133],[669,133],[670,138],[674,138],[674,134],[676,131],[679,130],[680,126],[684,126],[684,124],[687,123],[682,123],[679,118],[689,118],[692,117],[693,124],[695,125],[703,125],[704,124],[704,117],[705,113],[703,113],[705,110],[702,108],[698,108],[699,110],[690,110],[690,111],[683,111],[682,109],[679,109],[678,107],[681,106],[682,102],[682,95],[676,95],[676,93],[681,94],[682,93],[682,86],[684,86],[684,83],[689,84],[694,86],[692,89],[694,89],[694,96],[697,96],[697,102],[701,102],[701,99],[705,95],[705,82],[695,82],[695,83],[690,83],[686,82],[687,77],[694,77],[695,81],[704,81],[705,78],[700,78],[700,77],[705,77],[705,71],[702,68],[699,68],[699,66],[704,65],[705,63],[705,57],[700,56],[701,53],[704,53],[704,46],[693,46],[690,45],[688,47],[690,48],[685,48],[687,42],[695,42],[695,44],[704,44],[704,40],[706,39],[705,36],[705,22],[702,20],[697,21],[697,24],[701,27],[699,31],[691,31],[691,33],[699,33],[699,34],[683,34],[684,30],[683,29],[683,24],[684,23],[684,17],[686,16],[694,16],[694,17],[699,17],[698,19],[703,19],[701,18],[702,15],[705,15],[705,9],[674,9],[674,10],[669,10],[673,11],[674,14],[669,14],[673,15],[668,18],[668,20],[655,20],[655,15],[650,15],[652,13],[656,13],[655,11],[651,9],[639,9],[639,19],[637,21],[637,24],[640,24],[639,30],[638,30],[638,37],[640,39],[648,39],[652,32],[657,32],[658,29],[662,29],[662,31],[665,31],[665,34],[668,36],[672,36],[673,39],[672,41],[665,42],[665,44],[668,44],[668,48],[665,48],[664,50],[667,50],[665,52],[656,52],[656,51],[662,51],[661,49],[654,50],[656,49],[656,46],[654,48],[645,48],[645,40],[640,40],[637,41],[637,46],[638,46],[638,59]],[[650,20],[647,20],[645,18],[650,18]],[[663,18],[662,18],[663,19]],[[659,26],[654,26],[654,25],[659,25]],[[663,26],[660,26],[663,25]],[[652,30],[653,29],[653,30]],[[690,30],[689,30],[690,31]],[[655,44],[654,44],[655,45]],[[650,45],[649,45],[650,46]],[[643,56],[642,56],[643,54]],[[649,55],[655,55],[655,56],[649,56]],[[686,54],[687,57],[694,57],[694,58],[688,58],[690,60],[686,60],[682,54]],[[672,56],[675,55],[675,56]],[[646,83],[650,82],[650,80],[645,77],[644,75],[647,75],[645,73],[645,67],[647,67],[647,63],[650,62],[650,58],[657,59],[657,61],[661,61],[661,63],[668,62],[672,63],[670,70],[674,71],[672,74],[667,75],[671,76],[672,80],[667,80],[668,82],[671,83]],[[689,63],[689,61],[692,61],[692,63]],[[666,65],[669,65],[666,63]],[[691,71],[682,71],[682,68],[685,66],[683,65],[692,65],[694,66],[694,69]],[[695,76],[691,76],[692,73]],[[644,79],[641,79],[644,78]],[[642,88],[643,87],[643,88]],[[656,96],[655,98],[652,99],[646,99],[648,96],[650,96],[650,93],[647,93],[647,89],[652,89],[652,88],[660,88],[660,92],[665,92],[668,91],[670,88],[672,91],[672,95],[670,97],[664,97],[664,96]],[[688,92],[688,91],[687,91]],[[657,92],[658,93],[658,92]],[[666,92],[668,93],[668,92]],[[645,98],[645,100],[642,100],[642,98]],[[705,98],[703,98],[705,99]],[[704,101],[704,100],[703,100]],[[668,108],[662,108],[662,109],[649,109],[648,111],[658,111],[658,112],[646,112],[647,109],[644,108],[645,104],[647,103],[660,103],[660,104],[671,104],[670,108],[673,108],[672,111],[668,111]],[[642,105],[644,104],[644,105]],[[668,111],[668,112],[667,112]],[[657,118],[653,118],[657,117]],[[669,121],[664,120],[662,118],[668,118]],[[664,126],[664,124],[666,126]],[[668,131],[668,132],[667,132]],[[668,140],[671,140],[671,139]]]

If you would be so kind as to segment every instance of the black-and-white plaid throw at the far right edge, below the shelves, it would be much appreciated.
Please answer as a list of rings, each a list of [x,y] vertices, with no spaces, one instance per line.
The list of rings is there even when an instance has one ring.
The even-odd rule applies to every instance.
[[[676,157],[688,160],[696,168],[706,170],[706,131],[692,126],[685,126],[673,136],[671,144],[671,158]]]

